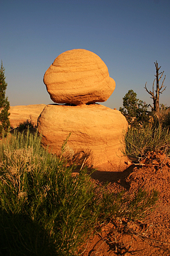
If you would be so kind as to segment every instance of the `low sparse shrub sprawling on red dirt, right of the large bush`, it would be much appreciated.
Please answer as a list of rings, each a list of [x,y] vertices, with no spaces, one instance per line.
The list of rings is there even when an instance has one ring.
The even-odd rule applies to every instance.
[[[128,197],[125,191],[117,195],[114,193],[103,193],[100,208],[101,221],[114,223],[117,219],[120,221],[127,218],[129,221],[140,220],[145,217],[145,213],[157,202],[158,193],[153,190],[147,193],[145,190],[139,191]]]

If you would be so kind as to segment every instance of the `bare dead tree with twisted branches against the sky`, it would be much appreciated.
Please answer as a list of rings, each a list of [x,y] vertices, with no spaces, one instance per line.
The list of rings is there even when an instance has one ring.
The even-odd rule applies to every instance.
[[[155,62],[154,62],[155,63]],[[164,92],[164,90],[166,89],[166,87],[164,88],[164,81],[165,81],[165,77],[166,77],[166,75],[165,75],[165,77],[164,77],[164,80],[163,80],[163,82],[162,82],[162,85],[161,85],[161,87],[159,87],[159,81],[161,80],[161,78],[162,78],[162,76],[163,76],[163,74],[164,74],[164,71],[163,72],[161,72],[161,73],[159,73],[159,69],[161,68],[161,66],[160,67],[158,67],[158,63],[157,63],[157,61],[156,61],[156,63],[155,63],[155,67],[156,67],[156,78],[154,79],[154,81],[153,81],[153,86],[152,86],[152,92],[151,91],[148,91],[148,89],[146,88],[146,84],[147,84],[147,82],[145,83],[145,90],[147,91],[147,93],[148,94],[150,94],[151,95],[151,99],[153,100],[153,107],[150,105],[150,107],[151,107],[151,109],[155,112],[155,114],[157,115],[157,117],[159,117],[159,94],[162,94],[163,92]],[[159,77],[159,75],[161,75],[160,77]],[[155,90],[155,92],[156,92],[156,94],[154,94],[154,83],[155,83],[155,80],[157,81],[157,88],[156,88],[156,90]],[[163,89],[164,88],[164,89]],[[162,90],[162,91],[161,91]]]

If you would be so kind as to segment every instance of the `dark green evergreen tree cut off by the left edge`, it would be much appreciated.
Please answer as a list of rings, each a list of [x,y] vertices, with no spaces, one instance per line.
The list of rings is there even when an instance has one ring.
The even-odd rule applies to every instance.
[[[8,97],[5,96],[7,83],[5,81],[5,68],[2,65],[0,66],[0,137],[2,137],[2,131],[6,135],[8,128],[10,127],[9,115],[8,112],[10,109],[10,104]]]

